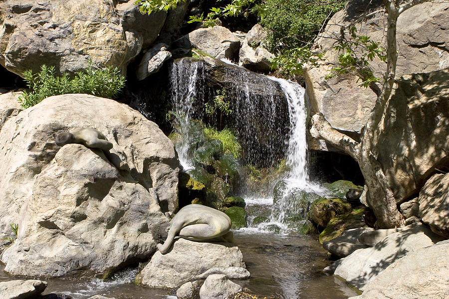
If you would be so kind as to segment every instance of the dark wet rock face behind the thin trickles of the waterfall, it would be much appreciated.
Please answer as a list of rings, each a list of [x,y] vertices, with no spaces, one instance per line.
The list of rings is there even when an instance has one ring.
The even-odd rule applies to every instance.
[[[285,136],[288,135],[290,121],[287,100],[277,82],[219,60],[210,64],[182,58],[174,61],[173,69],[177,70],[180,78],[190,78],[188,70],[192,69],[202,74],[197,77],[196,86],[200,88],[197,90],[201,92],[197,93],[193,107],[204,107],[214,99],[216,90],[225,88],[226,99],[233,112],[223,116],[223,123],[235,131],[241,144],[243,162],[267,167],[272,166],[266,165],[267,160],[271,163],[285,156]],[[191,136],[200,138],[201,134]]]

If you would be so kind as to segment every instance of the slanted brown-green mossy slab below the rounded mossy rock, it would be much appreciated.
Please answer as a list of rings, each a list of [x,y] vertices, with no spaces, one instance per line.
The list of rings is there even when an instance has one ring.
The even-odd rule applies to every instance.
[[[365,210],[366,207],[361,206],[353,209],[351,212],[332,218],[320,234],[320,243],[337,238],[347,229],[365,226],[365,221],[363,220]]]

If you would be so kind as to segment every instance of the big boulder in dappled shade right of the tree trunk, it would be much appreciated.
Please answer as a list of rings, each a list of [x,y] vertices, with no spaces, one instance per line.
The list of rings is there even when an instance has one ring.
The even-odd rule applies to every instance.
[[[449,69],[400,79],[380,127],[374,152],[403,202],[449,170]]]

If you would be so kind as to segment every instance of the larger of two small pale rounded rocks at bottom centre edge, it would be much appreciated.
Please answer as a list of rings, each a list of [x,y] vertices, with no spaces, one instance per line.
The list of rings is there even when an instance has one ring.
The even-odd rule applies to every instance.
[[[241,287],[226,279],[225,275],[213,274],[201,287],[200,299],[228,299],[241,291]]]

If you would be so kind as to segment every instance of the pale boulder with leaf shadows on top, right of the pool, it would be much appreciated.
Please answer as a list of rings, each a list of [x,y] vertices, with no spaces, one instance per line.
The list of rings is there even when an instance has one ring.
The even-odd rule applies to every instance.
[[[359,249],[344,258],[334,274],[360,290],[398,259],[441,241],[424,225],[388,235],[374,247]]]

